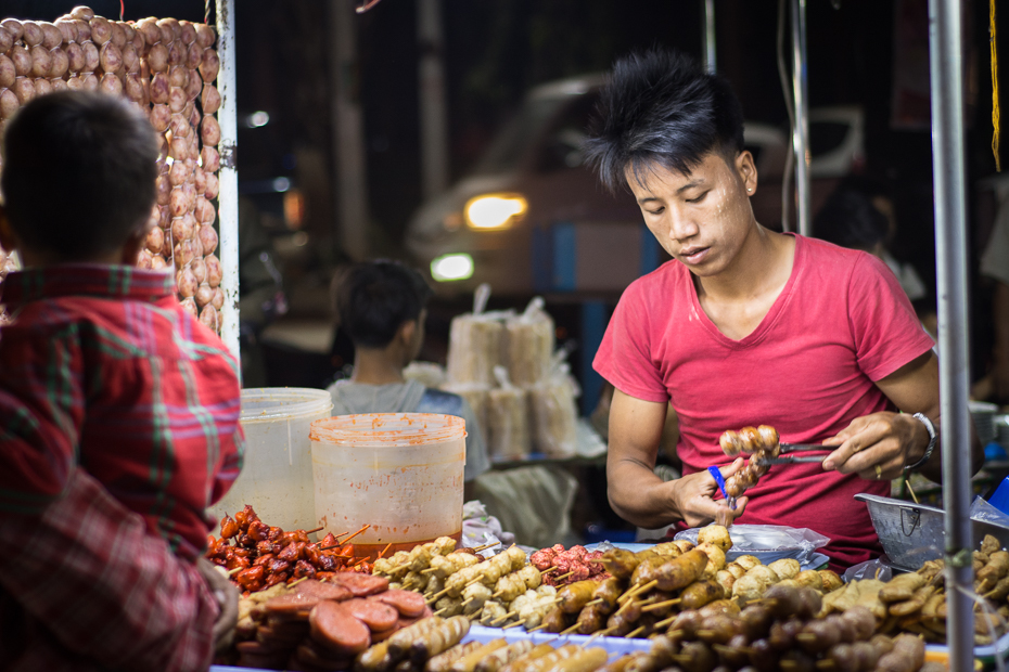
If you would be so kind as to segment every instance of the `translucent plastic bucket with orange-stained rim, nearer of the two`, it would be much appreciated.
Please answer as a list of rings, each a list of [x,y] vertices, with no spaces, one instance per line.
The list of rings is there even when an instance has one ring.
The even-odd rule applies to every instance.
[[[356,532],[354,555],[386,556],[462,535],[465,422],[433,413],[337,415],[311,425],[316,516]],[[325,532],[321,532],[324,534]]]

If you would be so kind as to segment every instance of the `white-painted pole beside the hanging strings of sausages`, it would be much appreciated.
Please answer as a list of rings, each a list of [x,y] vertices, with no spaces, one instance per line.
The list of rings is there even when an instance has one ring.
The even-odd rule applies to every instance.
[[[217,0],[217,55],[220,73],[217,89],[220,91],[220,288],[225,293],[221,310],[220,337],[241,362],[239,345],[239,170],[235,165],[238,148],[238,105],[234,91],[234,0]]]

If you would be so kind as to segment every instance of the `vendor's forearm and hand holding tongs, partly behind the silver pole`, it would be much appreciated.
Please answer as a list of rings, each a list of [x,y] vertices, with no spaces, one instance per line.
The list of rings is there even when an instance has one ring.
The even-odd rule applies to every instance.
[[[936,435],[940,434],[938,359],[934,352],[925,352],[905,364],[877,382],[877,386],[904,413],[873,413],[852,421],[843,431],[823,441],[839,445],[823,461],[825,469],[842,474],[857,471],[869,480],[897,478],[905,465],[915,464],[924,456],[929,445],[929,432],[914,414],[925,415],[935,426]],[[971,469],[976,471],[984,461],[984,452],[973,428],[971,439]],[[932,456],[919,470],[942,482],[942,441],[937,439]]]

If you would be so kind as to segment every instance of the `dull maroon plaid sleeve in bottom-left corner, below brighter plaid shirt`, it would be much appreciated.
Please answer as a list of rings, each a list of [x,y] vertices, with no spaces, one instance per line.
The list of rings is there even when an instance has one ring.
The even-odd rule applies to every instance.
[[[217,600],[82,469],[41,515],[0,514],[0,669],[206,670]]]

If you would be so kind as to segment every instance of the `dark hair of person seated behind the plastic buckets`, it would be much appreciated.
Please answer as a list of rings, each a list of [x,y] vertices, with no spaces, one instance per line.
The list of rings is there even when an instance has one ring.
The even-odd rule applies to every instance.
[[[397,261],[368,261],[340,279],[336,314],[356,347],[384,348],[405,322],[420,316],[431,295],[416,270]]]

